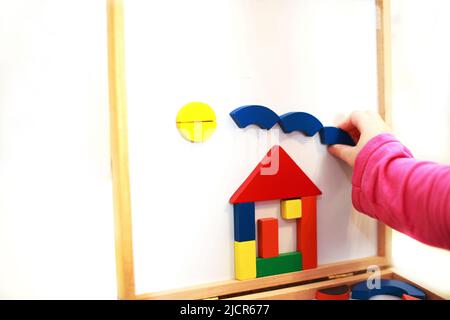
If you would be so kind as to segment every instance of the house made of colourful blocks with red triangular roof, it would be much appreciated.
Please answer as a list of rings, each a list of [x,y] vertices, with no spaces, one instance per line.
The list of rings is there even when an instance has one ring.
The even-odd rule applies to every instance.
[[[238,280],[317,267],[317,186],[280,146],[272,147],[230,199]],[[279,253],[278,219],[255,221],[255,203],[280,200],[282,219],[295,219],[297,251]],[[258,239],[256,239],[258,228]]]

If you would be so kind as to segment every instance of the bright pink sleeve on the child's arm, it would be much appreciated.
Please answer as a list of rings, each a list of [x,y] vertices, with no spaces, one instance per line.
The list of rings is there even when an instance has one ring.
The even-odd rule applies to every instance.
[[[353,205],[426,244],[450,249],[450,166],[418,161],[390,134],[356,158]]]

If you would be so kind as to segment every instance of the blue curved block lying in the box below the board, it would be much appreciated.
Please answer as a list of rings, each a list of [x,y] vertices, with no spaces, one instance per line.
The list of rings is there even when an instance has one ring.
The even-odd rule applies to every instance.
[[[378,295],[402,297],[404,294],[421,300],[426,298],[422,290],[400,280],[380,279],[379,288],[368,288],[367,281],[352,287],[352,299],[368,300]]]

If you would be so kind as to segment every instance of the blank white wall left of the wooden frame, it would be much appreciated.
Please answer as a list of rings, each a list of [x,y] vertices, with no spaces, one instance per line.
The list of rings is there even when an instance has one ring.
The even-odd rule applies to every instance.
[[[0,0],[0,299],[116,297],[105,18]]]

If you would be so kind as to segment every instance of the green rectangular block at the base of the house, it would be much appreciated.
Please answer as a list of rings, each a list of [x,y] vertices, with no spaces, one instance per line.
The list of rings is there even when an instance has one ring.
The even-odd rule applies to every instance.
[[[256,258],[256,277],[258,278],[301,270],[301,252],[282,253],[273,258]]]

